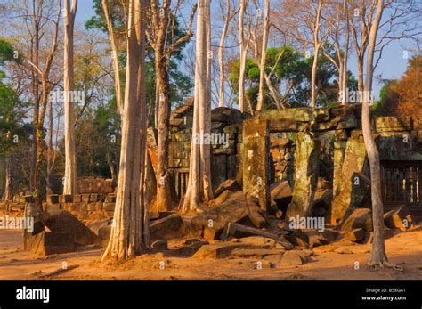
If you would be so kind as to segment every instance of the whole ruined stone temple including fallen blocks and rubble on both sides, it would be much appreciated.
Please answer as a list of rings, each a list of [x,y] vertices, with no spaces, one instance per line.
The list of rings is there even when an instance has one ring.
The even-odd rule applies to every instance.
[[[188,99],[171,115],[169,167],[174,200],[183,199],[188,182],[192,112],[193,100]],[[369,166],[360,104],[263,110],[255,117],[223,107],[212,110],[211,118],[215,199],[203,213],[189,218],[152,207],[153,249],[167,250],[167,240],[191,237],[177,252],[219,258],[236,250],[237,255],[247,255],[239,249],[314,248],[342,238],[371,241]],[[422,120],[379,117],[372,125],[382,165],[388,238],[411,228],[412,220],[414,223],[422,216]],[[148,131],[148,149],[147,199],[153,201],[154,128]],[[78,180],[79,194],[75,196],[48,196],[41,224],[49,231],[34,232],[27,240],[28,250],[51,254],[69,252],[75,245],[104,246],[110,237],[115,188],[111,180],[92,177]],[[23,210],[25,202],[31,202],[31,197],[17,197],[4,209],[6,213]],[[314,221],[292,228],[290,218]],[[310,227],[309,223],[320,226]],[[257,244],[251,237],[264,242]],[[233,239],[239,242],[224,242]],[[261,252],[263,256],[275,254],[265,252]],[[277,261],[271,263],[280,262],[279,257],[273,256]],[[296,256],[297,263],[304,260],[304,256]]]

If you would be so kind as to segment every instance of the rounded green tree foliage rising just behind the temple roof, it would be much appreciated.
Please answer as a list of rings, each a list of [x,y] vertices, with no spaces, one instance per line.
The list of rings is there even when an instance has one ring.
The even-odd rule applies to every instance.
[[[336,57],[334,49],[326,46],[327,53]],[[304,57],[304,54],[296,51],[291,46],[267,49],[265,61],[265,73],[272,72],[272,85],[280,89],[280,94],[285,96],[291,107],[306,106],[311,100],[311,77],[313,57]],[[239,89],[240,61],[234,61],[231,65],[229,80],[237,91]],[[320,55],[317,68],[317,86],[319,106],[337,105],[338,87],[335,81],[338,76],[336,67],[324,55]],[[357,80],[349,71],[349,88],[357,89]],[[246,61],[246,95],[248,100],[256,106],[259,86],[259,63],[248,58]],[[264,108],[273,106],[269,89],[265,85]]]

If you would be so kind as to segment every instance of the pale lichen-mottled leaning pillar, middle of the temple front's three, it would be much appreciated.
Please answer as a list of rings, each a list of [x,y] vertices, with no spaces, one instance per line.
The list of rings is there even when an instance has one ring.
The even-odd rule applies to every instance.
[[[320,141],[307,132],[296,134],[295,186],[288,206],[286,220],[290,217],[312,215],[312,203],[318,182]]]

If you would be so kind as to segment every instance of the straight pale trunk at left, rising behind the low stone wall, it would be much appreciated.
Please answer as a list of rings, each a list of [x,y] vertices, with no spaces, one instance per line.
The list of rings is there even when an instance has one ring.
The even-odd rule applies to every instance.
[[[63,194],[77,194],[77,167],[75,152],[75,120],[74,102],[71,92],[75,89],[75,76],[73,71],[73,28],[77,12],[77,0],[65,0],[64,10],[64,57],[63,57],[63,81],[64,81],[64,187]]]

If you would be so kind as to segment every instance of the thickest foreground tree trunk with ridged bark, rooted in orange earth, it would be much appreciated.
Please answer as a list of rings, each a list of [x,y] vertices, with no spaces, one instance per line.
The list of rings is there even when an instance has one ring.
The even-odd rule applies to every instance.
[[[145,247],[144,171],[146,142],[145,0],[130,0],[127,21],[126,90],[118,191],[110,241],[102,255],[127,259]],[[142,152],[143,151],[143,152]]]

